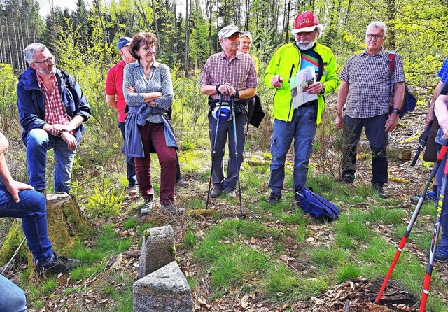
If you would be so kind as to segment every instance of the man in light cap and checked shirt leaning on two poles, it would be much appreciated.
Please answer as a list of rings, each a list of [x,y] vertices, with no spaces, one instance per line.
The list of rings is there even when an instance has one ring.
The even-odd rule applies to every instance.
[[[258,77],[255,63],[250,55],[239,52],[240,31],[235,25],[223,27],[218,32],[219,42],[223,50],[211,55],[204,66],[200,77],[201,92],[209,96],[209,134],[212,154],[212,182],[213,190],[211,198],[218,197],[225,191],[230,197],[235,197],[238,171],[243,162],[244,143],[246,141],[248,111],[248,99],[257,92]],[[235,99],[235,125],[237,134],[237,146],[235,146],[234,129],[231,119],[219,121],[216,132],[216,111],[220,94],[224,102],[229,102],[230,97]],[[225,143],[229,136],[229,161],[227,176],[224,176],[223,156]],[[217,138],[215,140],[215,137]],[[214,144],[216,143],[216,146]],[[237,162],[235,162],[237,153]]]

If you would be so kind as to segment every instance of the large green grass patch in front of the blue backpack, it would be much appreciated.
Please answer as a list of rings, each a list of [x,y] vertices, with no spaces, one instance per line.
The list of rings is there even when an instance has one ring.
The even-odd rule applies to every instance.
[[[247,189],[243,195],[260,199],[252,201],[247,207],[260,213],[262,218],[249,222],[223,220],[207,229],[203,239],[195,241],[195,259],[211,275],[211,297],[222,297],[230,290],[255,290],[259,292],[260,299],[280,304],[309,300],[332,285],[353,281],[360,276],[370,281],[384,278],[406,228],[404,220],[410,215],[408,210],[396,208],[400,201],[381,199],[368,186],[347,187],[335,183],[332,177],[311,177],[309,185],[337,203],[342,211],[339,220],[331,223],[318,222],[297,207],[293,193],[287,190],[282,193],[279,204],[266,204],[269,191],[259,192],[260,183],[257,181],[262,178],[253,174],[264,172],[265,164],[257,164],[255,159],[252,164],[253,167],[246,166],[244,170],[246,177],[242,179]],[[286,171],[288,170],[287,168]],[[269,171],[265,174],[268,175]],[[288,178],[288,173],[286,174],[285,184],[292,184],[292,178]],[[372,202],[365,204],[366,197],[370,197]],[[223,201],[235,204],[233,199],[227,197],[223,197]],[[425,204],[421,213],[433,214],[434,210],[432,206]],[[322,227],[321,231],[313,230],[310,222],[314,227]],[[381,227],[392,229],[388,232],[396,239],[396,245],[381,237],[380,232],[377,232]],[[423,227],[428,227],[425,222],[417,222],[416,233],[412,235],[413,242],[426,250],[431,231],[425,232]],[[319,245],[321,234],[332,235],[332,241],[325,246]],[[309,236],[316,240],[307,243]],[[247,243],[251,237],[274,239],[265,248],[254,251]],[[297,242],[292,247],[296,249],[287,249],[291,248],[291,243],[286,243],[287,238]],[[412,241],[412,236],[409,241]],[[290,259],[288,266],[279,261],[286,253]],[[252,262],[250,266],[248,260]],[[403,252],[400,260],[403,263],[399,262],[401,264],[395,267],[393,278],[402,281],[405,288],[419,297],[424,265],[406,252]],[[289,267],[290,263],[295,262],[314,269],[302,274],[300,270]],[[195,279],[190,278],[189,281],[192,285],[197,285]],[[443,285],[438,277],[433,278],[433,283],[434,287]],[[428,308],[432,306],[436,309],[442,306],[440,302],[440,297],[433,296],[428,300]]]

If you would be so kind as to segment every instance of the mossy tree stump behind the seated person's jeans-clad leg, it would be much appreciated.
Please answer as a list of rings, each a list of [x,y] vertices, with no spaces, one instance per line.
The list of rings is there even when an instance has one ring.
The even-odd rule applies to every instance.
[[[95,234],[94,225],[85,219],[76,199],[69,194],[47,194],[47,220],[52,248],[61,255],[69,255],[76,240],[85,240]],[[0,264],[13,257],[24,237],[22,220],[14,220],[0,250]],[[31,259],[29,249],[22,247],[16,257]]]

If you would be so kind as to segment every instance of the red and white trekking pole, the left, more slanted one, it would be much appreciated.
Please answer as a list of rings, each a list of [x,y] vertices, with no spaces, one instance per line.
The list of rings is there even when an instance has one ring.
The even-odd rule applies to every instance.
[[[423,192],[421,192],[419,202],[417,203],[414,213],[412,214],[412,218],[406,227],[405,234],[403,235],[403,237],[400,241],[400,245],[397,248],[395,257],[393,257],[391,267],[389,267],[389,270],[386,274],[386,278],[384,278],[383,285],[381,285],[381,289],[379,290],[377,299],[375,300],[375,303],[377,303],[377,304],[381,300],[381,296],[383,295],[383,292],[386,289],[387,283],[388,283],[389,279],[391,278],[393,269],[395,269],[395,264],[397,264],[398,258],[400,258],[401,252],[402,252],[403,248],[405,248],[407,238],[409,237],[409,234],[411,233],[412,227],[414,227],[414,222],[420,213],[420,209],[421,209],[421,206],[423,206],[423,202],[426,199],[426,194],[428,192],[428,188],[429,188],[430,184],[433,182],[433,179],[437,173],[437,170],[440,167],[440,163],[442,162],[444,155],[447,153],[447,149],[448,149],[448,140],[445,140],[444,145],[442,146],[442,149],[440,150],[439,155],[437,155],[437,160],[434,163],[433,170],[431,171],[430,176],[428,178],[428,182],[426,182]]]

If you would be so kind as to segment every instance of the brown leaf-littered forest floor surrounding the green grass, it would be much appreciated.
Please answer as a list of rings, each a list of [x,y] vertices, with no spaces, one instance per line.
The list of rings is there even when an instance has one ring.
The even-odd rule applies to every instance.
[[[389,208],[398,208],[405,211],[405,217],[402,218],[402,227],[407,225],[410,215],[412,215],[415,208],[415,205],[409,201],[409,197],[421,193],[426,180],[428,180],[430,169],[427,166],[423,166],[421,160],[417,162],[415,167],[411,167],[409,166],[410,161],[403,160],[400,156],[402,154],[401,151],[406,149],[412,150],[412,157],[414,156],[419,132],[423,129],[425,115],[426,108],[417,108],[414,113],[409,113],[404,120],[400,121],[398,129],[391,134],[390,147],[399,151],[399,153],[392,153],[393,155],[389,157],[390,182],[385,185],[385,190],[391,201],[387,201],[388,204],[384,204],[386,201],[377,197],[365,197],[365,201],[359,204],[348,205],[337,198],[329,198],[337,204],[342,215],[353,207],[359,209],[359,211],[370,211],[369,207],[371,204],[379,206],[384,204],[385,214],[388,213],[387,209]],[[409,138],[414,139],[407,140]],[[314,176],[328,175],[328,172],[325,171],[325,166],[319,165],[323,162],[323,159],[318,159],[318,157],[319,155],[312,157],[312,174]],[[207,157],[205,162],[208,161]],[[267,171],[269,170],[269,158],[265,157],[263,153],[248,150],[246,152],[246,162],[248,162],[248,166],[256,164],[264,166],[265,169],[267,168]],[[292,164],[292,154],[288,156],[287,162]],[[205,173],[188,172],[184,176],[191,185],[186,189],[176,190],[180,205],[188,207],[187,210],[194,208],[191,203],[196,203],[197,208],[204,208],[208,188],[208,180],[204,179],[204,176],[208,174],[209,171]],[[266,173],[263,173],[262,178],[266,178]],[[354,185],[348,186],[346,190],[350,192],[355,190],[355,187],[359,187],[359,185],[370,185],[369,160],[358,162],[356,181]],[[262,204],[269,196],[267,180],[260,181],[260,187],[261,190],[258,190],[259,194],[257,196],[244,196],[243,212],[245,222],[251,222],[251,220],[261,222],[263,225],[281,232],[295,230],[296,226],[294,224],[288,225],[284,222],[279,222],[279,220],[276,220],[276,215],[271,213],[265,204]],[[246,187],[243,186],[241,193],[244,194],[245,190]],[[137,201],[139,201],[139,204],[141,203],[141,200],[137,199]],[[107,260],[103,271],[94,273],[88,278],[75,280],[71,278],[70,274],[57,276],[57,286],[54,288],[54,291],[37,296],[43,302],[41,306],[36,304],[38,300],[33,297],[33,290],[27,289],[29,311],[132,311],[132,309],[129,309],[129,304],[127,304],[127,307],[123,307],[123,309],[117,307],[117,301],[120,300],[120,296],[117,297],[117,294],[125,293],[129,297],[130,292],[132,292],[132,283],[137,281],[141,233],[137,230],[137,227],[125,228],[123,226],[126,220],[130,218],[137,220],[139,225],[144,225],[148,222],[152,225],[157,225],[156,223],[158,222],[155,222],[155,220],[159,220],[160,224],[170,224],[174,227],[178,247],[176,249],[176,261],[187,276],[188,281],[195,281],[190,283],[192,284],[194,302],[193,311],[418,311],[419,303],[417,301],[419,302],[421,294],[406,290],[402,283],[395,280],[390,282],[390,287],[385,292],[386,297],[388,297],[387,302],[381,302],[379,305],[374,304],[374,299],[383,281],[381,277],[372,280],[358,276],[342,283],[332,283],[320,292],[314,293],[314,295],[305,296],[303,299],[295,299],[293,302],[290,300],[282,302],[281,293],[278,294],[279,298],[276,300],[266,300],[265,297],[260,295],[256,287],[248,287],[248,285],[257,285],[256,276],[252,277],[251,281],[248,279],[244,283],[236,283],[235,285],[237,286],[216,292],[209,267],[205,266],[203,262],[197,261],[195,244],[199,244],[207,236],[210,229],[221,224],[224,220],[238,219],[240,216],[239,201],[229,199],[228,197],[212,199],[209,208],[217,211],[218,218],[216,218],[216,214],[199,216],[188,214],[179,218],[171,218],[171,216],[165,215],[158,208],[149,216],[139,215],[139,204],[136,204],[136,200],[128,197],[120,210],[121,214],[111,220],[114,232],[120,239],[132,239],[134,241],[133,246],[129,250],[119,255],[113,255]],[[297,209],[297,206],[291,204],[291,201],[286,201],[284,204],[286,205],[282,207],[284,211]],[[261,206],[262,209],[253,208],[258,206]],[[307,274],[307,271],[318,271],[306,257],[302,261],[301,257],[297,255],[302,255],[304,253],[303,250],[311,248],[311,246],[331,248],[335,241],[335,227],[330,223],[313,220],[309,215],[303,215],[302,218],[307,222],[307,234],[304,241],[297,242],[289,239],[286,235],[284,240],[285,247],[280,255],[277,253],[270,254],[269,250],[276,243],[276,238],[253,236],[248,239],[243,237],[241,241],[244,241],[246,246],[255,250],[264,250],[272,257],[276,257],[277,262],[284,264],[291,271],[300,271],[303,274]],[[432,233],[433,220],[433,214],[419,216],[418,222],[419,225],[421,224],[419,232],[427,232],[425,237],[428,237],[428,235],[430,237]],[[197,242],[193,244],[193,248],[188,248],[185,244],[186,232],[188,230],[193,231],[194,237],[197,239]],[[401,236],[395,234],[395,229],[388,227],[386,224],[381,224],[381,222],[372,224],[372,231],[379,234],[395,248],[400,242]],[[425,246],[428,246],[428,243]],[[407,255],[400,258],[397,266],[405,267],[407,265],[407,257],[409,257],[409,254],[413,255],[418,258],[421,264],[421,274],[419,276],[423,276],[428,250],[421,248],[421,245],[416,241],[407,243],[405,250]],[[385,262],[390,263],[391,260],[386,259]],[[23,263],[15,264],[13,269],[10,269],[5,275],[20,283],[20,271],[25,265]],[[433,276],[437,276],[442,283],[446,283],[448,277],[447,264],[435,264]],[[31,280],[34,283],[38,283],[35,277],[31,276]],[[423,279],[421,280],[422,283]],[[106,288],[107,290],[105,290]],[[430,291],[430,297],[437,296],[443,302],[447,295],[448,292],[443,289],[431,289]],[[129,298],[127,300],[129,301]],[[109,307],[113,307],[113,309]],[[434,310],[434,312],[437,311]]]

